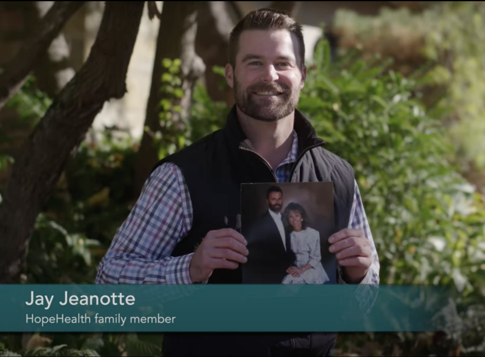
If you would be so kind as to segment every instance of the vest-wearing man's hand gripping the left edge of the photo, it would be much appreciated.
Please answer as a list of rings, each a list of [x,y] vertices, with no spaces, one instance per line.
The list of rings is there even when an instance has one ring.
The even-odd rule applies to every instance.
[[[193,283],[209,279],[214,269],[237,269],[247,261],[244,237],[232,228],[211,230],[195,250],[189,273]]]

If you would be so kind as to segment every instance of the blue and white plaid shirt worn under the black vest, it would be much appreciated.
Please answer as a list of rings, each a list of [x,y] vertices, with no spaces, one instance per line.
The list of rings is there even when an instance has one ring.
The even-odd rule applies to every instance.
[[[298,138],[293,130],[292,148],[275,170],[279,182],[290,180],[291,165],[297,154]],[[360,283],[359,300],[364,307],[372,306],[375,300],[380,265],[357,183],[355,187],[349,228],[361,229],[372,248],[371,268]],[[96,283],[192,284],[189,263],[194,253],[170,256],[191,229],[192,219],[192,202],[181,171],[173,163],[164,163],[146,180],[138,201],[116,232],[99,264]],[[341,276],[339,267],[338,282],[345,284]]]

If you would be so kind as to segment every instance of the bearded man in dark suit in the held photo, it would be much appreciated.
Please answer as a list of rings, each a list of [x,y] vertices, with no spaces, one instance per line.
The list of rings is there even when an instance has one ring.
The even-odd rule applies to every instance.
[[[251,252],[242,267],[243,283],[281,284],[293,262],[290,235],[281,219],[283,191],[272,186],[266,192],[266,211],[248,230],[243,232]]]

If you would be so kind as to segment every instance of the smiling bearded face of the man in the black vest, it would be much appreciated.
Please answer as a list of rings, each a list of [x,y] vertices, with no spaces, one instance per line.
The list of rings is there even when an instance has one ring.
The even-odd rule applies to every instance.
[[[239,38],[236,65],[226,79],[242,113],[276,121],[296,108],[306,76],[298,41],[287,30],[247,30]]]

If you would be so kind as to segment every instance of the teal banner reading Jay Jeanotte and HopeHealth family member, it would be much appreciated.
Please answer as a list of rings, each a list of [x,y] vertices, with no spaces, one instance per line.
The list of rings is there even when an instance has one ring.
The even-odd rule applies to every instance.
[[[0,285],[0,332],[438,331],[450,296],[420,286]]]

